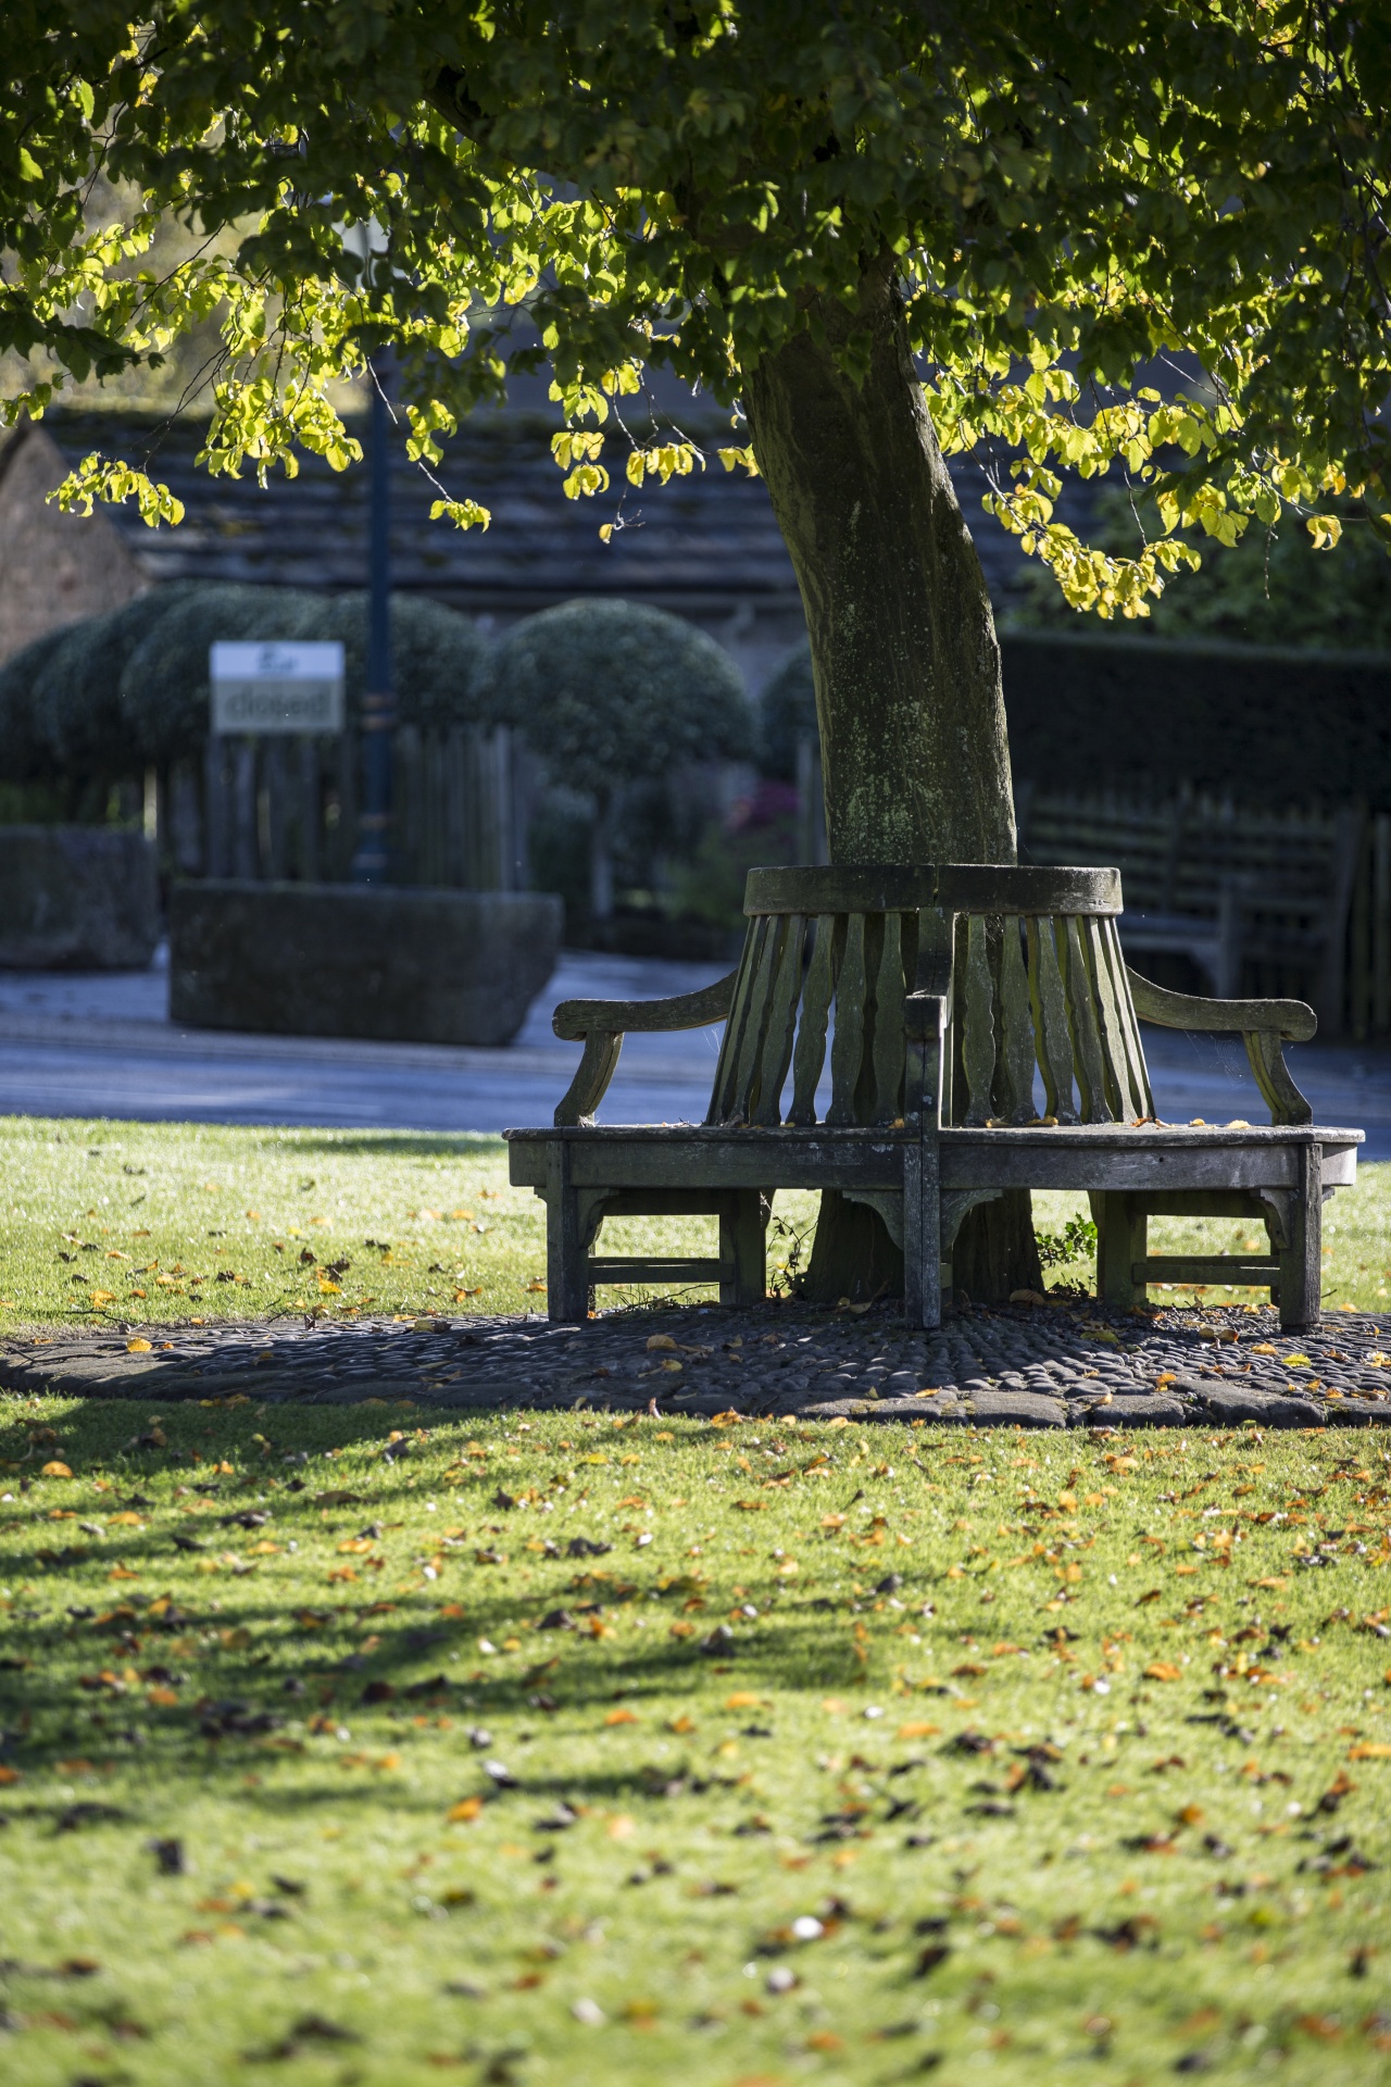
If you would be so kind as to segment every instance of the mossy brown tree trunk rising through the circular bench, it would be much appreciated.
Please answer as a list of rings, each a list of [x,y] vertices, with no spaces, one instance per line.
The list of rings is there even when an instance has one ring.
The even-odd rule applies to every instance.
[[[865,271],[857,311],[807,307],[805,330],[751,367],[745,407],[807,611],[830,860],[1014,862],[995,618],[893,257]],[[868,1231],[878,1217],[822,1200],[813,1294],[878,1288],[895,1248]],[[980,1300],[1036,1286],[1028,1194],[974,1210],[955,1258]]]

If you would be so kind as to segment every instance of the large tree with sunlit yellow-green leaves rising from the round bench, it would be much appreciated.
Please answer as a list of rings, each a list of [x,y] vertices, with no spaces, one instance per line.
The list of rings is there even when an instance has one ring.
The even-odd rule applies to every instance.
[[[1145,614],[1185,528],[1293,507],[1335,543],[1347,495],[1391,538],[1385,0],[21,0],[2,63],[13,413],[219,303],[211,470],[350,461],[332,384],[388,342],[430,470],[548,359],[571,497],[615,447],[634,486],[705,467],[646,367],[728,405],[803,591],[832,860],[1014,858],[943,451],[1103,616]],[[142,273],[165,211],[209,246]],[[1061,470],[1143,482],[1155,532],[1080,545]],[[173,515],[129,459],[65,488],[125,495]],[[488,520],[467,488],[438,511]],[[986,1208],[1007,1281],[1026,1213]]]

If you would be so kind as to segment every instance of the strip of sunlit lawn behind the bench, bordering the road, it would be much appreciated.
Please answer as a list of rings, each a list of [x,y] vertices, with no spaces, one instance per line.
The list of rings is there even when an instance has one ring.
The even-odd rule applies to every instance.
[[[501,1137],[6,1117],[0,1167],[0,1327],[544,1309],[544,1210],[509,1188]],[[1041,1231],[1076,1217],[1084,1196],[1034,1198]],[[813,1196],[778,1196],[774,1284],[797,1236],[805,1261],[813,1221]],[[713,1219],[611,1219],[605,1246],[690,1252],[701,1227],[713,1252]],[[1149,1238],[1170,1254],[1199,1242],[1264,1250],[1260,1229],[1230,1221],[1160,1219]],[[1324,1304],[1389,1309],[1391,1165],[1360,1169],[1328,1206],[1324,1240]],[[1091,1286],[1095,1265],[1057,1265],[1049,1279]],[[1260,1292],[1153,1296],[1220,1304]]]

